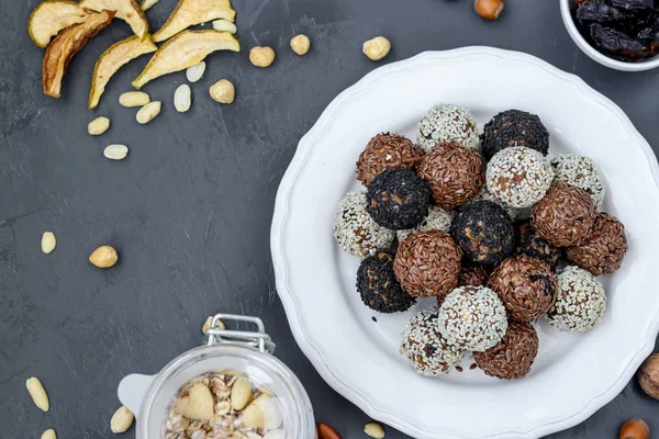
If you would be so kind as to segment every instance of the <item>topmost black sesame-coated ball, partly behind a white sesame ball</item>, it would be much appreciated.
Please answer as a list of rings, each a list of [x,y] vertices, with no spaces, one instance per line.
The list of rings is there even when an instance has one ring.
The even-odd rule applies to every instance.
[[[481,148],[485,159],[490,160],[496,153],[511,146],[525,146],[546,156],[549,151],[549,133],[535,114],[506,110],[483,127]]]

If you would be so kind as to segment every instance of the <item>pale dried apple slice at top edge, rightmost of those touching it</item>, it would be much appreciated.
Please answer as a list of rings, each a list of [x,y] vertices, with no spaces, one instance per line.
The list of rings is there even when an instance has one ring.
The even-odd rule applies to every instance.
[[[180,0],[165,24],[154,34],[154,41],[165,41],[194,24],[216,19],[234,21],[235,18],[236,11],[230,0]]]

